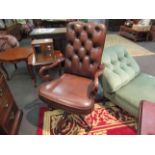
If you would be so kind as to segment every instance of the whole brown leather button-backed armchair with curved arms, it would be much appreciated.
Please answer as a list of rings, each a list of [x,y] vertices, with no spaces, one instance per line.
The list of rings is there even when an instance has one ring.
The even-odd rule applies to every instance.
[[[91,128],[83,119],[94,107],[94,95],[98,89],[98,77],[103,71],[101,56],[106,36],[103,24],[71,22],[67,25],[67,45],[65,58],[40,69],[40,76],[50,68],[64,62],[64,74],[53,81],[43,83],[39,87],[40,98],[47,102],[49,108],[65,110],[64,118],[57,125],[56,134],[61,132],[61,125],[70,113],[78,114],[77,123],[89,130]]]

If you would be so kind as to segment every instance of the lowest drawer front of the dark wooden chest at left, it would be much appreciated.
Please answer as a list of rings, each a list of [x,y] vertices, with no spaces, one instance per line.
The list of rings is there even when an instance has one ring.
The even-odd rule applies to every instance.
[[[18,112],[17,106],[14,104],[9,112],[6,122],[4,123],[4,127],[8,133],[10,133],[13,123],[15,121],[16,114]]]

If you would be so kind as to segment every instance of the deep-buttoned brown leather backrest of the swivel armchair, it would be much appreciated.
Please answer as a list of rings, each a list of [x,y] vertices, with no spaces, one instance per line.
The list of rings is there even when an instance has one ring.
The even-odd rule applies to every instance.
[[[71,22],[67,25],[65,72],[93,78],[101,64],[106,37],[103,24]]]

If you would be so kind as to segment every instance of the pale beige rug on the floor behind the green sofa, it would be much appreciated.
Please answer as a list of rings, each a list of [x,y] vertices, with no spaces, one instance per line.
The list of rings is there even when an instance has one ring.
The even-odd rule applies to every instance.
[[[146,56],[155,54],[147,50],[146,48],[139,46],[135,42],[126,39],[118,34],[107,34],[105,41],[105,48],[116,44],[124,45],[127,48],[129,54],[132,56]]]

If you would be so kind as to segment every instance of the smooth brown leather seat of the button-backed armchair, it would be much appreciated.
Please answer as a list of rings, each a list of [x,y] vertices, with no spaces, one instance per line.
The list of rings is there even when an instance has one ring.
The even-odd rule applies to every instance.
[[[93,100],[89,98],[91,83],[91,79],[63,74],[59,79],[42,84],[39,94],[53,107],[77,113],[89,113],[94,106]]]

